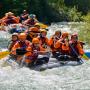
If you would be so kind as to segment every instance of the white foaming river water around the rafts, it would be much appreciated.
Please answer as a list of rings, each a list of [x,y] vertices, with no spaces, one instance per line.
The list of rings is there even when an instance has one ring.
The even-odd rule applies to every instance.
[[[67,23],[52,24],[49,27],[48,37],[55,30],[68,31]],[[74,30],[78,32],[77,29]],[[10,35],[0,32],[0,50],[7,48]],[[2,67],[0,61],[0,90],[90,90],[90,62],[79,66],[63,66],[48,69],[42,72],[28,68],[12,69]]]

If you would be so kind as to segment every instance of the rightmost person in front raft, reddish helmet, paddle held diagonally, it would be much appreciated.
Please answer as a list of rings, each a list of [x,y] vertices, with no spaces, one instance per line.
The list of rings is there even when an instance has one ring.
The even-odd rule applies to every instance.
[[[70,56],[73,59],[80,61],[80,59],[84,54],[84,50],[81,41],[78,40],[77,33],[71,35],[71,40],[69,41],[69,44],[70,44]]]

